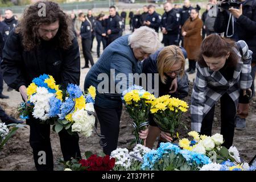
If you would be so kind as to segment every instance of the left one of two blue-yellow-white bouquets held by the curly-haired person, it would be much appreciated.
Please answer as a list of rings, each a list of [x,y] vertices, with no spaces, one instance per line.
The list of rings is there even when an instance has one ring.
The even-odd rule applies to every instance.
[[[44,123],[55,123],[60,113],[63,92],[56,85],[51,75],[40,75],[32,80],[27,88],[27,103],[22,103],[18,109],[20,118],[34,117]]]

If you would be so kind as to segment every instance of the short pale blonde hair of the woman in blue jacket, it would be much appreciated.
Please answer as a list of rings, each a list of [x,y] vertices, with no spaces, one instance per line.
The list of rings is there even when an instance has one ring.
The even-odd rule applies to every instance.
[[[161,43],[158,34],[154,29],[142,26],[136,29],[128,38],[128,44],[131,48],[141,48],[145,53],[154,53],[157,51]]]

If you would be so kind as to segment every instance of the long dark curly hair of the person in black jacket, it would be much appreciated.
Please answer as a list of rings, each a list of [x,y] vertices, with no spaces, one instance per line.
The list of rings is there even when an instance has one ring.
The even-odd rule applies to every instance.
[[[46,16],[39,16],[42,7],[39,3],[46,5]],[[39,46],[40,37],[38,28],[41,24],[51,24],[59,20],[59,30],[55,37],[57,38],[57,47],[68,49],[72,45],[72,20],[65,14],[60,6],[51,1],[39,1],[34,5],[27,7],[24,11],[20,23],[15,29],[17,34],[22,36],[22,44],[26,51]]]

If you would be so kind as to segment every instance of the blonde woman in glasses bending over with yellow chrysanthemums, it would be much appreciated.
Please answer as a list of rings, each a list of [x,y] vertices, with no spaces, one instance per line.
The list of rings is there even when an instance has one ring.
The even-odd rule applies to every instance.
[[[158,83],[154,83],[154,76],[152,80],[147,80],[147,84],[152,82],[152,86],[158,86],[160,97],[166,94],[171,94],[172,97],[184,98],[188,96],[188,76],[184,73],[185,57],[187,53],[184,48],[177,46],[167,46],[160,48],[154,54],[150,55],[142,63],[143,73],[158,73]],[[155,88],[152,88],[155,90]],[[146,139],[146,146],[152,148],[156,137],[160,134],[160,142],[170,142],[172,138],[168,133],[160,131],[157,124],[154,122],[152,115],[149,117],[150,125],[148,130],[141,131],[141,139]]]

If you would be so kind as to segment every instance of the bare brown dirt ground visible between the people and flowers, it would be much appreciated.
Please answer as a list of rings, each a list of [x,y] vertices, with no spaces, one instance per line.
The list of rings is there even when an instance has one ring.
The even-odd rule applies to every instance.
[[[96,52],[96,40],[94,40],[93,51]],[[93,53],[94,61],[97,60],[96,53]],[[81,66],[84,66],[84,59],[81,57]],[[187,65],[186,65],[187,67]],[[84,78],[86,73],[88,72],[88,68],[81,69],[81,81],[80,86],[83,88]],[[193,80],[195,74],[189,75],[189,80]],[[192,88],[192,87],[191,87]],[[20,94],[15,91],[6,92],[7,86],[4,87],[4,94],[10,96],[8,100],[0,100],[0,105],[3,109],[6,110],[6,113],[13,115],[18,118],[18,113],[16,112],[16,107],[22,101],[20,98]],[[189,92],[189,96],[185,98],[185,101],[189,102],[191,97],[191,89]],[[188,130],[190,129],[190,113],[189,111],[183,115],[183,122],[188,126]],[[120,134],[118,140],[118,147],[121,148],[129,148],[130,142],[133,140],[133,135],[131,131],[133,127],[131,126],[132,119],[129,117],[129,114],[123,109],[123,114],[121,117],[120,123]],[[250,114],[246,119],[246,129],[243,131],[235,131],[233,146],[236,146],[240,151],[242,158],[245,159],[246,162],[249,162],[253,156],[256,154],[256,98],[250,104]],[[187,130],[179,129],[180,137],[187,137]],[[217,104],[216,113],[215,113],[215,121],[213,124],[213,134],[220,133],[220,105]],[[32,156],[32,149],[29,143],[30,129],[29,126],[19,129],[16,134],[7,142],[6,146],[3,147],[3,150],[0,152],[0,171],[10,170],[10,171],[30,171],[36,170],[34,166],[34,160]],[[81,153],[84,154],[85,151],[92,151],[95,154],[100,154],[102,152],[100,144],[100,139],[97,137],[95,133],[92,134],[91,137],[80,138],[80,150]],[[155,142],[156,144],[157,142]],[[60,170],[61,165],[58,160],[62,158],[61,150],[60,150],[60,142],[59,136],[51,132],[51,144],[53,151],[53,158],[55,162],[55,170]]]

